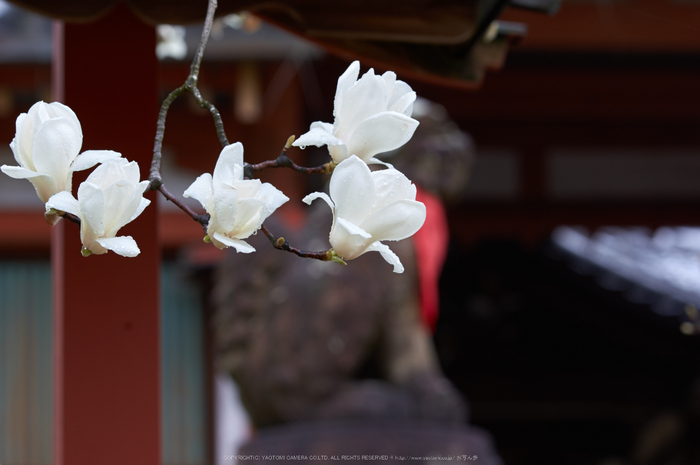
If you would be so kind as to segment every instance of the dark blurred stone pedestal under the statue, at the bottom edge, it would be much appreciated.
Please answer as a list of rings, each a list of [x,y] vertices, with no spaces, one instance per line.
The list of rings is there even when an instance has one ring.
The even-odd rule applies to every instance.
[[[263,428],[244,445],[239,463],[501,465],[493,441],[470,426],[395,420],[335,420]]]

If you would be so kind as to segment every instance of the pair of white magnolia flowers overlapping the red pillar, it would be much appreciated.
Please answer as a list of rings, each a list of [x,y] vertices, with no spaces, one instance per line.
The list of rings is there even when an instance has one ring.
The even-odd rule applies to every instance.
[[[130,236],[117,237],[119,229],[134,220],[148,206],[143,198],[148,181],[139,182],[139,167],[120,153],[88,150],[80,153],[83,131],[80,121],[67,106],[37,102],[17,117],[10,148],[19,166],[3,165],[3,173],[28,179],[46,205],[46,220],[55,224],[59,213],[80,218],[83,255],[112,250],[135,257],[140,250]],[[71,194],[74,171],[100,163]]]

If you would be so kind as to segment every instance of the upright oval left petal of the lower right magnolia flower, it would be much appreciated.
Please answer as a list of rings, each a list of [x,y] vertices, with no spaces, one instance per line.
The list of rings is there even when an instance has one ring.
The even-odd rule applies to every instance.
[[[367,164],[354,155],[344,160],[333,170],[329,190],[337,215],[361,224],[374,199],[374,183]]]

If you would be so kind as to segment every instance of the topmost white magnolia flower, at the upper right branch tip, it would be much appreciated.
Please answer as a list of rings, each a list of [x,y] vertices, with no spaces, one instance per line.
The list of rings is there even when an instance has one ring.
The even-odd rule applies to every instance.
[[[359,80],[360,62],[353,62],[338,79],[333,124],[317,121],[293,145],[328,146],[333,161],[340,163],[357,155],[367,163],[404,145],[413,136],[418,121],[411,118],[416,93],[396,74],[381,76],[367,71]]]

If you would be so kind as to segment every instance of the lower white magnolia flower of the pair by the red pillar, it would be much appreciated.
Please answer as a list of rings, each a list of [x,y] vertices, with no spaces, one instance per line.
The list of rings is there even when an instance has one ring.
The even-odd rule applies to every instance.
[[[77,200],[70,192],[59,192],[46,202],[46,209],[72,213],[80,218],[83,255],[111,250],[125,257],[135,257],[141,252],[136,241],[131,236],[116,236],[122,226],[136,219],[151,203],[143,198],[149,183],[139,182],[139,179],[136,162],[124,158],[107,160],[80,184]]]

